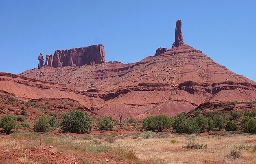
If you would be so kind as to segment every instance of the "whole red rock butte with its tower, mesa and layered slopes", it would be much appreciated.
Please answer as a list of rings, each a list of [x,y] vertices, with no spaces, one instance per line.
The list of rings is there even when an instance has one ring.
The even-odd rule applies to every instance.
[[[20,75],[0,73],[0,90],[22,100],[73,99],[98,115],[115,119],[122,113],[124,118],[138,119],[174,116],[206,101],[256,100],[256,82],[184,44],[181,21],[176,21],[173,48],[160,47],[140,62],[106,63],[103,46],[96,47],[55,51],[55,57],[46,56],[46,64],[41,54],[40,69]]]

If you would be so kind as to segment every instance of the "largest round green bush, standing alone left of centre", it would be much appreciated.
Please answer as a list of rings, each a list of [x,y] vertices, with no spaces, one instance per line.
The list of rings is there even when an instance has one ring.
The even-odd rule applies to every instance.
[[[62,115],[61,128],[63,132],[80,134],[90,133],[92,130],[92,123],[87,114],[73,110],[68,114]]]

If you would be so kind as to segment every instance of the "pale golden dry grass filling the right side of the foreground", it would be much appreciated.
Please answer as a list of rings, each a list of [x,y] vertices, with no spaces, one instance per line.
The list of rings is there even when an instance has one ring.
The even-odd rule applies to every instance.
[[[173,139],[177,141],[174,144],[171,143]],[[191,140],[208,145],[208,148],[182,148]],[[136,140],[125,138],[117,140],[115,144],[130,147],[141,160],[153,159],[167,164],[254,164],[256,161],[256,153],[250,151],[256,145],[256,135],[182,136],[171,134],[168,138],[138,138]],[[235,149],[234,147],[241,147],[241,158],[226,157],[228,152]]]

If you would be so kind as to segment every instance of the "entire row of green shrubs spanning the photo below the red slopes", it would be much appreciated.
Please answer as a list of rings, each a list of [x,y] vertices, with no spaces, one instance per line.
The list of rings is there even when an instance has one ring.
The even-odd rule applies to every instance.
[[[0,128],[2,128],[2,132],[9,134],[13,128],[16,128],[17,119],[18,121],[26,120],[26,114],[26,110],[23,109],[22,115],[18,116],[18,118],[13,115],[2,116],[2,119],[0,119]],[[239,115],[239,113],[236,113],[235,115],[237,114]],[[174,118],[169,118],[166,115],[149,116],[143,120],[143,129],[153,132],[162,132],[165,128],[172,127],[177,133],[187,134],[205,132],[205,130],[211,131],[213,128],[218,128],[219,130],[225,128],[226,131],[237,130],[237,125],[232,123],[232,121],[225,124],[225,117],[223,115],[208,113],[206,117],[201,114],[196,117],[186,117],[187,113],[185,112],[180,113]],[[134,118],[129,121],[131,123],[135,122]],[[246,116],[240,123],[243,132],[256,133],[256,119]],[[24,127],[29,126],[27,122],[24,122],[23,124],[22,126]],[[117,121],[112,119],[112,117],[105,116],[98,120],[98,127],[100,130],[113,130],[116,124]],[[61,126],[63,132],[81,134],[90,133],[92,130],[92,119],[87,113],[77,110],[63,114],[61,123],[59,123],[55,115],[52,115],[52,117],[42,115],[38,120],[34,121],[33,129],[35,132],[48,132],[50,127],[58,126]]]

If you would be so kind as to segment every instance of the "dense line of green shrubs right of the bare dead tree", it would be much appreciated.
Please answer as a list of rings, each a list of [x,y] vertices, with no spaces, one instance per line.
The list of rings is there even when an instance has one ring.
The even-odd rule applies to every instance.
[[[235,113],[237,115],[239,113]],[[225,128],[226,131],[236,131],[237,125],[232,121],[225,124],[225,117],[223,115],[208,115],[204,117],[199,114],[196,117],[186,118],[185,112],[180,113],[174,118],[169,118],[165,115],[149,116],[143,121],[143,129],[151,130],[153,132],[162,132],[164,128],[173,128],[177,133],[199,133],[213,130],[218,128],[219,130]],[[251,117],[245,117],[241,121],[241,130],[245,133],[256,133],[256,119]]]

